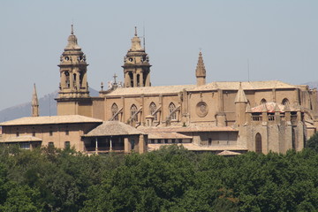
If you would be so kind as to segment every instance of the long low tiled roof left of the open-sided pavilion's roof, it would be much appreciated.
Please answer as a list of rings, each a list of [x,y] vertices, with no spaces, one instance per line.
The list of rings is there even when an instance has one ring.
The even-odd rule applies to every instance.
[[[0,125],[54,125],[73,123],[102,123],[102,120],[93,117],[84,117],[79,115],[52,117],[21,117],[11,121],[0,123]]]

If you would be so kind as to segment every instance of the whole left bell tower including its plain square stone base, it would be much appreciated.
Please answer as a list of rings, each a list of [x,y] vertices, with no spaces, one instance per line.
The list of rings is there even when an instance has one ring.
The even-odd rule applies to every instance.
[[[92,117],[92,98],[87,84],[87,61],[78,45],[73,26],[68,43],[60,57],[60,83],[57,97],[57,115]]]

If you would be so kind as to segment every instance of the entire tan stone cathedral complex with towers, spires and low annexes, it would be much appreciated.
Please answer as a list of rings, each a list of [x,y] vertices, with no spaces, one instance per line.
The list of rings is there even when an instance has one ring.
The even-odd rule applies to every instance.
[[[316,89],[278,80],[207,83],[201,52],[195,85],[152,87],[136,28],[122,65],[123,85],[115,76],[108,89],[102,85],[99,96],[91,97],[87,65],[72,30],[58,64],[57,116],[38,117],[34,87],[33,117],[1,123],[1,142],[73,146],[87,153],[142,153],[178,143],[221,155],[267,154],[301,150],[318,126]]]

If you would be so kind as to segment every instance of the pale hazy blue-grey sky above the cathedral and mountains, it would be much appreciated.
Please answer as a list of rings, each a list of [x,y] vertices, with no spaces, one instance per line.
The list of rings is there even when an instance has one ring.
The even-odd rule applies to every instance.
[[[0,0],[0,110],[57,90],[71,33],[87,55],[88,84],[107,85],[146,27],[153,86],[194,84],[202,49],[207,82],[318,80],[317,0]],[[40,106],[41,107],[41,106]]]

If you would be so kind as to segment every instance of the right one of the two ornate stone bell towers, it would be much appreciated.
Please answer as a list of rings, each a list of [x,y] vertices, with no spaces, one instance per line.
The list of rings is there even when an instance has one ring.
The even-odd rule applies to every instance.
[[[124,57],[124,87],[150,87],[150,67],[148,54],[141,48],[137,27],[132,39],[132,47]]]

